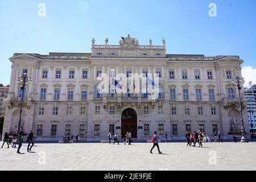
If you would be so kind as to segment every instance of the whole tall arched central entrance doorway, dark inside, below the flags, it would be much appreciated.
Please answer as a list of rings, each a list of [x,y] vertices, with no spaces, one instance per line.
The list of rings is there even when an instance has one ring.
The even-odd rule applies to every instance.
[[[131,108],[125,109],[122,112],[122,137],[125,137],[127,131],[131,133],[131,138],[137,138],[137,113],[134,109]]]

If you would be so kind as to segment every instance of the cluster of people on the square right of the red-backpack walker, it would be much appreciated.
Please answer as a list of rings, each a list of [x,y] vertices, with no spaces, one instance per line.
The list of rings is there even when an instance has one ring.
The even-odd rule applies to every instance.
[[[221,138],[221,133],[220,131],[215,131],[214,132],[214,142],[217,142],[217,136],[218,136],[218,142],[222,142],[222,138]],[[187,146],[192,146],[193,143],[193,147],[196,146],[196,143],[199,143],[199,147],[203,147],[203,142],[211,142],[210,138],[208,137],[208,135],[205,132],[201,132],[201,131],[194,131],[194,134],[191,132],[186,133],[185,135],[186,139],[187,139]]]

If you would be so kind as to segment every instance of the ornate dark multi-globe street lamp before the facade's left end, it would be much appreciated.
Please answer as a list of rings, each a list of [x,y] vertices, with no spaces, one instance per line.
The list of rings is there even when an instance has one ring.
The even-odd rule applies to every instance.
[[[18,77],[18,82],[19,82],[19,84],[22,84],[22,100],[20,103],[19,122],[18,122],[18,133],[19,133],[19,131],[21,129],[21,117],[22,117],[22,107],[23,107],[23,100],[24,100],[24,89],[25,89],[25,86],[30,84],[30,82],[31,82],[31,77],[27,76],[27,69],[25,69],[23,71],[22,76]]]

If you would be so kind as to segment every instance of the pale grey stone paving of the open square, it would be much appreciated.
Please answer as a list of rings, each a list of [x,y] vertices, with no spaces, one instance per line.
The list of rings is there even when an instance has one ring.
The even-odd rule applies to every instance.
[[[1,142],[2,146],[2,142]],[[108,143],[35,143],[34,153],[23,144],[0,148],[0,170],[256,170],[256,142],[203,143],[203,148],[186,143],[159,143],[163,154],[152,143],[131,146]]]

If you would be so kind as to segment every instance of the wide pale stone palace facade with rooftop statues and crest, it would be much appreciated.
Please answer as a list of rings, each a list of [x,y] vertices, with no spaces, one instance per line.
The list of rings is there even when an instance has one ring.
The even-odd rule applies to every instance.
[[[18,77],[27,72],[32,82],[24,89],[22,128],[26,134],[34,130],[36,140],[60,140],[69,134],[101,140],[109,132],[120,136],[126,131],[137,140],[150,139],[154,131],[171,139],[198,130],[209,136],[221,131],[224,138],[240,135],[238,90],[231,84],[236,71],[241,74],[243,60],[238,56],[166,54],[164,39],[162,46],[153,46],[151,39],[149,46],[141,46],[128,35],[115,46],[108,39],[97,45],[93,38],[91,53],[14,53],[10,61],[3,133],[17,130],[22,97]],[[138,84],[117,93],[118,84],[110,82],[110,92],[103,93],[98,86],[103,73],[113,78],[118,73],[155,73],[158,98],[149,99]],[[135,87],[141,93],[134,93]],[[245,105],[243,114],[247,123]]]

